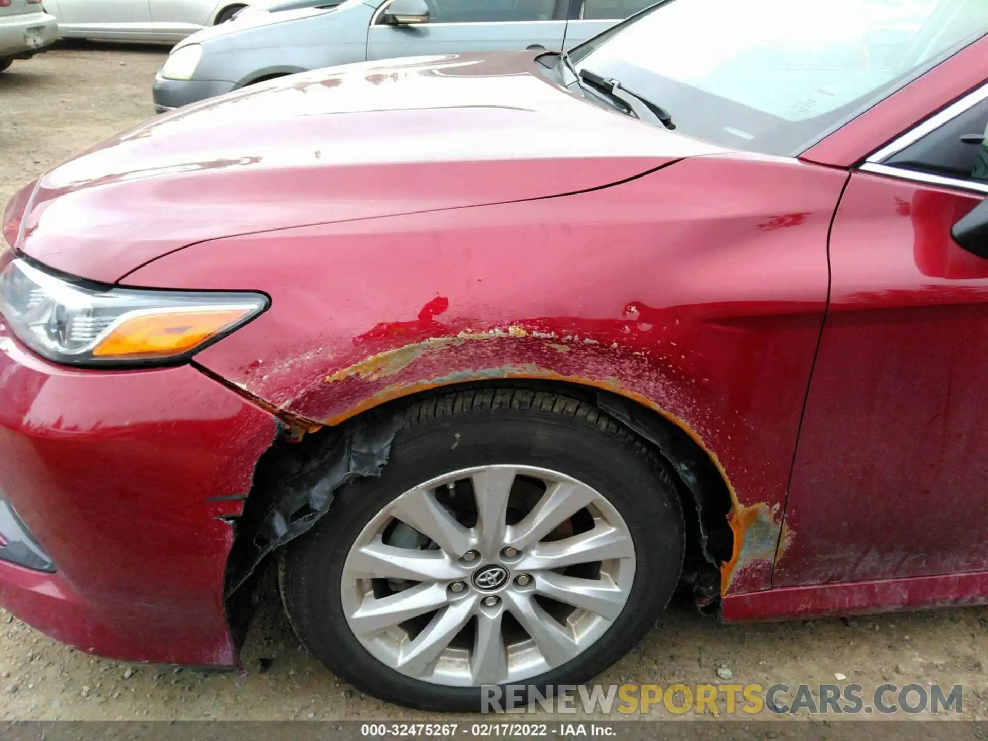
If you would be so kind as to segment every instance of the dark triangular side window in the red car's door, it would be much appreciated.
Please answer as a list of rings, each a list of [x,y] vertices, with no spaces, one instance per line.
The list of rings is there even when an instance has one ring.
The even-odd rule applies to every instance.
[[[883,165],[988,184],[988,100],[954,117]]]

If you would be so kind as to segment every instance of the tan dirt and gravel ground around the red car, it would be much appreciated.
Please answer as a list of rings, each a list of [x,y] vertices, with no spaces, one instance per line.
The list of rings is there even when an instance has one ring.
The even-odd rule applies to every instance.
[[[161,47],[94,45],[15,62],[0,74],[0,201],[152,116],[150,86],[163,58]],[[734,683],[858,682],[865,693],[883,682],[962,684],[964,714],[980,719],[988,716],[986,628],[988,609],[724,626],[681,604],[600,681],[706,684],[723,682],[729,670]],[[0,611],[0,719],[423,717],[335,680],[298,647],[275,601],[255,620],[244,662],[237,676],[106,661]]]

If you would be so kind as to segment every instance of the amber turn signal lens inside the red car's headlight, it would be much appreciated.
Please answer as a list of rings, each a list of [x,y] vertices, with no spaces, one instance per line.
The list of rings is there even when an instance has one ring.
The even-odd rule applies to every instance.
[[[256,308],[223,306],[131,314],[93,348],[93,355],[114,358],[183,355],[221,334]]]

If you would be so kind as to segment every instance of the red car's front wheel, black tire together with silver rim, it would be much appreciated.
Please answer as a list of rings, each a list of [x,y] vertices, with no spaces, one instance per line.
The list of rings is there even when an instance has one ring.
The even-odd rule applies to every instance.
[[[505,466],[515,473],[505,472]],[[545,475],[548,482],[539,483],[538,477]],[[449,483],[443,484],[444,478],[452,479],[452,489]],[[465,563],[462,558],[453,562],[453,556],[448,557],[443,548],[436,550],[435,541],[429,540],[429,545],[423,546],[422,535],[400,524],[408,519],[418,519],[417,524],[427,522],[428,519],[423,520],[423,512],[429,507],[420,505],[423,502],[435,505],[439,497],[447,497],[444,500],[447,504],[466,501],[466,505],[457,505],[461,524],[470,527],[472,522],[476,527],[470,533],[479,533],[483,537],[487,532],[485,523],[503,523],[504,518],[492,516],[484,519],[474,513],[471,521],[469,503],[477,506],[479,500],[473,497],[477,486],[487,486],[487,492],[498,492],[499,488],[491,483],[498,480],[513,481],[504,486],[511,492],[508,495],[511,504],[507,505],[508,519],[514,518],[509,523],[513,525],[514,535],[511,537],[518,540],[521,548],[521,553],[516,554],[514,560],[506,555],[510,551],[499,550],[501,542],[496,542],[478,543],[477,547],[482,553],[467,551],[464,557],[471,552],[476,553],[473,557],[475,563]],[[435,490],[439,494],[422,493],[433,491],[436,481],[440,482]],[[420,486],[425,482],[430,482],[429,487]],[[522,545],[519,538],[524,539],[526,532],[532,535],[534,531],[526,530],[526,523],[530,521],[517,522],[525,513],[524,510],[515,512],[521,504],[516,507],[514,503],[528,500],[537,501],[540,505],[542,501],[549,501],[549,494],[542,493],[542,486],[546,490],[550,486],[555,487],[552,491],[558,493],[559,498],[552,501],[562,503],[561,508],[572,509],[579,506],[575,503],[584,501],[591,504],[572,515],[549,535],[540,535],[537,540]],[[406,493],[407,496],[403,496]],[[600,498],[593,499],[595,495]],[[462,500],[464,496],[465,500]],[[545,499],[541,500],[541,497]],[[502,500],[491,494],[483,501],[493,503]],[[550,510],[546,506],[539,512]],[[395,511],[402,515],[400,522],[389,519],[388,513]],[[443,512],[451,515],[448,509],[443,509]],[[413,548],[407,551],[408,554],[416,559],[432,559],[435,556],[442,560],[444,569],[464,568],[467,575],[459,582],[462,591],[458,595],[453,595],[456,582],[449,581],[452,577],[445,571],[436,577],[438,581],[435,584],[426,580],[418,584],[415,581],[398,582],[399,586],[394,587],[393,592],[396,599],[398,591],[403,588],[408,595],[402,593],[401,599],[427,599],[427,595],[432,595],[440,601],[449,599],[449,602],[444,603],[444,607],[439,608],[440,612],[431,618],[428,612],[425,617],[417,618],[421,621],[417,627],[409,628],[409,624],[414,622],[411,620],[402,623],[402,626],[387,628],[382,633],[372,630],[363,632],[365,637],[362,639],[351,627],[348,615],[354,620],[364,620],[357,623],[360,625],[365,624],[367,617],[358,617],[366,614],[362,613],[363,608],[355,612],[354,604],[367,604],[361,603],[361,600],[368,599],[366,590],[369,587],[374,590],[374,595],[383,589],[383,596],[386,596],[392,593],[395,583],[393,578],[386,581],[364,580],[361,576],[371,573],[362,571],[365,568],[365,561],[362,560],[365,558],[364,548],[381,546],[378,540],[368,538],[379,535],[374,529],[383,522],[389,524],[380,526],[384,530],[379,533],[385,539],[391,538],[388,542],[395,542],[396,534],[401,529],[404,538],[402,547]],[[535,520],[532,522],[537,523]],[[583,558],[583,555],[572,556],[570,550],[584,547],[585,538],[590,537],[584,531],[591,524],[595,534],[608,534],[607,537],[616,538],[620,544],[615,547],[620,552],[597,551],[602,555],[610,553],[612,557],[597,565],[571,565],[567,574],[572,569],[588,568],[592,571],[596,569],[595,573],[588,575],[580,571],[577,577],[560,577],[559,571],[550,570],[551,564],[561,562],[557,560],[544,560],[550,566],[543,570],[535,568],[535,565],[542,563],[538,560],[542,555],[545,559],[549,554],[554,554],[553,558],[559,557],[559,554],[571,560]],[[618,527],[621,524],[624,530]],[[442,533],[434,527],[423,527],[422,530]],[[664,464],[630,431],[596,407],[542,391],[460,391],[416,402],[406,410],[403,427],[394,438],[389,462],[381,476],[357,479],[337,491],[329,513],[311,531],[296,538],[283,551],[280,582],[288,619],[298,638],[315,658],[338,677],[362,692],[396,704],[427,710],[476,711],[481,709],[484,697],[491,697],[490,688],[482,694],[479,685],[488,683],[478,680],[480,676],[503,680],[495,683],[502,687],[502,691],[507,684],[535,685],[545,694],[554,685],[589,681],[615,663],[654,624],[672,596],[682,570],[684,533],[680,501]],[[409,534],[418,540],[408,541]],[[436,537],[443,540],[446,535]],[[450,537],[455,539],[453,535]],[[567,540],[567,537],[573,539]],[[557,545],[551,544],[553,539]],[[631,556],[627,555],[628,539],[633,544]],[[369,544],[355,548],[355,543],[365,542]],[[580,544],[570,545],[577,542]],[[454,546],[460,544],[461,541],[448,544],[446,550],[455,554],[457,549]],[[418,550],[414,550],[416,546]],[[576,563],[576,560],[572,562]],[[387,556],[383,561],[374,563],[393,564],[395,561]],[[477,567],[476,564],[482,566]],[[393,577],[392,569],[391,565],[384,567]],[[502,570],[510,573],[502,574]],[[520,573],[525,571],[532,573]],[[353,574],[358,574],[360,579],[355,582]],[[525,576],[530,581],[527,587],[521,586]],[[502,577],[507,581],[500,581]],[[581,612],[558,602],[544,602],[542,597],[533,600],[534,593],[526,592],[526,589],[535,590],[536,587],[544,590],[546,585],[559,584],[560,579],[573,578],[608,580],[607,602],[595,603],[594,606],[595,610],[603,611],[601,615],[591,611]],[[487,593],[482,590],[492,588],[495,581],[501,584],[498,587],[501,591],[485,597]],[[405,587],[405,584],[412,586]],[[617,586],[611,589],[610,585]],[[480,607],[491,596],[498,600],[497,607]],[[567,597],[571,596],[567,592]],[[466,600],[473,602],[467,603]],[[620,600],[624,600],[622,606]],[[535,603],[542,608],[541,612],[531,607]],[[374,604],[382,603],[377,599]],[[431,669],[409,669],[416,662],[427,661],[428,658],[415,657],[416,644],[409,642],[414,631],[421,630],[417,634],[428,639],[433,628],[435,632],[442,632],[447,618],[452,621],[450,624],[455,622],[456,618],[450,617],[454,611],[465,615],[466,605],[474,605],[469,608],[474,617],[468,618],[464,631],[453,638],[453,647],[446,649],[439,663],[433,659]],[[544,618],[548,615],[547,611],[556,611],[560,606],[564,617],[532,621],[533,616]],[[558,644],[565,646],[565,649],[558,648],[554,639],[542,644],[534,639],[525,642],[526,633],[531,636],[535,631],[544,636],[541,631],[546,626],[552,635],[557,635],[558,628],[551,621],[555,620],[557,625],[564,624],[561,620],[567,619],[567,611],[571,611],[568,615],[571,622],[565,624],[570,628],[568,632],[562,630],[562,633],[570,637]],[[608,617],[602,617],[605,613]],[[506,614],[511,614],[511,617],[506,617]],[[423,628],[422,624],[429,619],[429,626]],[[492,622],[497,619],[500,622]],[[526,621],[525,632],[519,632],[523,621]],[[495,625],[496,628],[489,628],[488,625]],[[533,629],[530,630],[529,626]],[[472,637],[469,634],[471,629]],[[506,644],[514,646],[511,657],[503,646],[490,652],[479,651],[478,645],[483,641],[478,636],[482,629],[493,629],[494,632],[485,634],[501,635]],[[400,636],[407,636],[405,642],[400,644],[404,647],[392,651],[392,644],[395,640],[400,641]],[[584,639],[585,645],[572,648]],[[458,652],[455,649],[457,641],[461,646]],[[546,647],[544,650],[543,645]],[[574,652],[572,656],[571,651]],[[464,652],[468,652],[468,659],[464,658]],[[490,661],[481,662],[481,653]],[[395,656],[399,662],[401,657],[411,658],[399,670],[392,661]],[[526,676],[526,671],[536,674]]]

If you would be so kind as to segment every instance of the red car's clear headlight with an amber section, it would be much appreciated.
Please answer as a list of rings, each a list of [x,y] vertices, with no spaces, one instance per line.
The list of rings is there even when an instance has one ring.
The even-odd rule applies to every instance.
[[[188,360],[267,307],[263,293],[102,287],[20,259],[0,273],[0,319],[39,355],[72,366]]]

